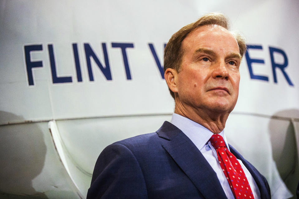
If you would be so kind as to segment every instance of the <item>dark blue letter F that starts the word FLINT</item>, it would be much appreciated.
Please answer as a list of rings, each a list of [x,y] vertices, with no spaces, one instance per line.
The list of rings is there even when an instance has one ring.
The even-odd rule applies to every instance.
[[[38,61],[38,62],[31,62],[30,58],[30,52],[31,51],[40,51],[43,50],[42,45],[29,45],[29,46],[24,46],[24,53],[25,53],[25,62],[26,62],[26,71],[27,71],[27,77],[28,77],[28,84],[34,85],[33,82],[33,75],[32,75],[32,68],[35,67],[43,67],[43,62]]]

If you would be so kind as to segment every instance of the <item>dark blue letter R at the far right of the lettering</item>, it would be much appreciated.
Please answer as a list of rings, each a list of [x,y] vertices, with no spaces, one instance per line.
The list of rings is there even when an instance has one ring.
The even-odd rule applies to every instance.
[[[283,52],[283,50],[281,50],[281,49],[277,49],[277,48],[273,48],[273,47],[269,47],[269,51],[270,51],[270,57],[271,57],[271,64],[272,64],[274,82],[277,83],[276,70],[275,69],[279,68],[281,70],[283,76],[286,78],[287,83],[291,86],[294,86],[292,81],[290,80],[289,76],[284,71],[284,68],[287,67],[287,64],[288,64],[286,53]],[[282,54],[282,56],[284,58],[284,63],[283,64],[278,64],[274,61],[274,56],[273,56],[274,52]]]

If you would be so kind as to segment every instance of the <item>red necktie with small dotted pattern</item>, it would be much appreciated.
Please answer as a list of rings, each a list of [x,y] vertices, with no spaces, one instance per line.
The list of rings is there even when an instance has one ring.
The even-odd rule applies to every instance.
[[[214,134],[210,138],[212,146],[217,152],[221,169],[230,185],[236,199],[254,198],[244,171],[235,157],[225,146],[221,135]]]

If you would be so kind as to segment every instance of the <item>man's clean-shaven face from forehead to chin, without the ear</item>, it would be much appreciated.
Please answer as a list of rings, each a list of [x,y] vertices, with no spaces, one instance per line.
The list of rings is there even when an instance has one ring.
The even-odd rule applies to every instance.
[[[177,76],[183,106],[230,113],[239,93],[241,56],[235,37],[218,25],[193,30],[182,43],[182,70]]]

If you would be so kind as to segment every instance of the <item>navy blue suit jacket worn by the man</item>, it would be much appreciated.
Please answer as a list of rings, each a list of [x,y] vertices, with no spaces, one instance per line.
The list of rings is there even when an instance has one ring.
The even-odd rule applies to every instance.
[[[249,170],[261,198],[267,180],[232,146]],[[164,122],[154,133],[107,146],[97,159],[87,198],[226,198],[216,173],[193,142]]]

